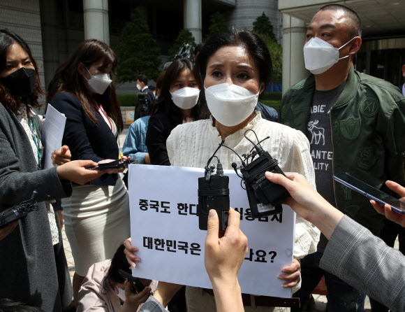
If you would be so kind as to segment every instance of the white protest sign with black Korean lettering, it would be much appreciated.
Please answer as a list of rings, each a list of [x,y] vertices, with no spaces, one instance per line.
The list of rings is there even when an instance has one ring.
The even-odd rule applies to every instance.
[[[289,298],[277,276],[293,261],[295,213],[254,220],[246,191],[234,171],[229,176],[230,206],[241,214],[240,228],[247,236],[248,254],[239,272],[242,292]],[[132,244],[141,261],[133,275],[157,281],[212,288],[204,267],[206,231],[198,228],[198,178],[204,169],[129,166],[129,200]]]

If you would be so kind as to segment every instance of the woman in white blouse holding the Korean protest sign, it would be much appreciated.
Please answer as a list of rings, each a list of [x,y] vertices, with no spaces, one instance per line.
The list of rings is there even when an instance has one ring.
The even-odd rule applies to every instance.
[[[263,41],[250,31],[230,29],[210,39],[197,59],[205,87],[205,98],[212,116],[177,126],[168,137],[170,164],[204,168],[207,159],[222,140],[242,155],[252,147],[244,134],[253,129],[259,139],[270,136],[261,146],[275,159],[283,171],[302,173],[315,187],[314,166],[309,154],[309,142],[302,132],[276,122],[264,120],[255,111],[258,95],[270,82],[272,61]],[[254,134],[246,134],[256,141]],[[223,169],[232,169],[239,163],[237,155],[227,148],[216,153]],[[282,270],[283,287],[297,290],[300,282],[300,264],[297,259],[316,251],[319,231],[314,225],[297,216],[295,224],[294,261]],[[247,295],[249,296],[249,295]],[[186,290],[188,311],[215,311],[214,297],[200,288]],[[255,311],[276,311],[272,297],[256,299]],[[250,311],[245,306],[245,311]]]

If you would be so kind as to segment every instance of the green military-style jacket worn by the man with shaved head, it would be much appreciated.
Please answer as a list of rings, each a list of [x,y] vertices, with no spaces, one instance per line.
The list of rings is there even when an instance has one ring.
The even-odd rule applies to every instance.
[[[314,90],[311,74],[290,87],[280,106],[280,121],[307,136]],[[348,172],[384,192],[390,192],[385,180],[404,185],[405,98],[397,87],[351,66],[344,90],[330,110],[330,126],[333,174]],[[380,234],[384,216],[366,197],[336,181],[334,197],[340,211]]]

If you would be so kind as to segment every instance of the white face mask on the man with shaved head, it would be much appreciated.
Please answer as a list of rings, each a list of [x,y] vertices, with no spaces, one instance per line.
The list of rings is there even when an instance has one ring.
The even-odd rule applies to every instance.
[[[304,45],[305,68],[311,71],[311,73],[314,73],[314,75],[325,73],[325,71],[339,61],[339,50],[350,43],[354,38],[355,37],[340,48],[334,48],[333,45],[323,41],[321,38],[311,38]],[[350,55],[346,55],[346,57],[349,56]],[[346,59],[346,57],[341,57],[340,59]]]

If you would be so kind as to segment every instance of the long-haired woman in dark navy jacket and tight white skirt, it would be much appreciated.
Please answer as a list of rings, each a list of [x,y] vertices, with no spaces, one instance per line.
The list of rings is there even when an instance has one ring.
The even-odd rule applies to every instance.
[[[51,104],[66,115],[63,143],[72,159],[98,164],[118,159],[117,137],[123,128],[121,110],[110,78],[117,57],[105,43],[80,43],[54,76]],[[89,267],[110,259],[129,236],[128,192],[117,173],[105,174],[87,185],[74,185],[63,199],[66,236],[75,260],[76,299]],[[76,301],[76,300],[75,300]]]

